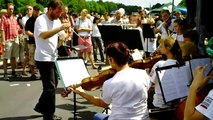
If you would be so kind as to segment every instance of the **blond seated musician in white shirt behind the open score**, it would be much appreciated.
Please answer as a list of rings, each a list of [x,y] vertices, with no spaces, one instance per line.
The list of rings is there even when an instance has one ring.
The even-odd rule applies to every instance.
[[[176,63],[183,64],[184,61],[182,60],[182,51],[177,40],[172,37],[166,37],[164,39],[161,39],[159,42],[159,51],[161,54],[165,55],[167,59],[158,61],[151,69],[150,76],[155,89],[152,103],[154,107],[169,108],[171,107],[171,104],[164,103],[155,69],[157,67],[174,65]]]

